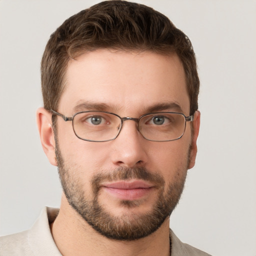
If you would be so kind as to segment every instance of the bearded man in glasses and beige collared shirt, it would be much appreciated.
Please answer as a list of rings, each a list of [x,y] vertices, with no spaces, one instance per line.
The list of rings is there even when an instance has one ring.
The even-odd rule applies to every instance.
[[[208,255],[169,229],[196,156],[199,79],[189,39],[141,4],[67,20],[41,61],[41,143],[60,209],[2,237],[1,255]]]

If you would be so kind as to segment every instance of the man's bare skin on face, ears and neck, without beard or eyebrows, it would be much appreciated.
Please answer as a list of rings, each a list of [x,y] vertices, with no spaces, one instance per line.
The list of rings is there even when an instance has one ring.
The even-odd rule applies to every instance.
[[[78,104],[91,101],[106,104],[105,109],[119,116],[139,117],[152,105],[176,103],[176,107],[162,111],[178,111],[189,115],[189,97],[185,74],[178,56],[152,52],[124,52],[107,49],[84,53],[69,62],[66,84],[58,109],[72,116]],[[80,109],[83,110],[83,109]],[[94,110],[94,109],[93,109]],[[96,110],[96,109],[95,109]],[[89,142],[78,139],[71,122],[57,117],[58,147],[65,168],[82,184],[84,194],[91,199],[90,180],[100,171],[117,167],[145,167],[159,174],[167,186],[185,177],[193,167],[200,113],[186,123],[183,136],[174,141],[155,142],[144,139],[134,121],[125,121],[119,136],[107,142]],[[57,165],[55,140],[51,127],[51,113],[37,110],[37,124],[41,143],[49,162]],[[191,133],[193,125],[193,134]],[[188,153],[190,151],[190,154]],[[115,194],[101,189],[98,200],[114,216],[131,217],[144,214],[157,200],[157,189],[137,200],[136,207],[125,207]],[[51,225],[54,241],[63,255],[169,255],[169,218],[150,235],[133,241],[108,239],[96,232],[69,205],[62,195],[60,211]]]

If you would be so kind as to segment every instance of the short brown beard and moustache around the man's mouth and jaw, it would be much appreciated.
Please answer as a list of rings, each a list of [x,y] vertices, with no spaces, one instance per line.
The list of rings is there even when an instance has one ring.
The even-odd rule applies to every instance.
[[[57,140],[55,152],[62,189],[71,207],[98,233],[110,239],[127,241],[148,236],[170,216],[184,187],[189,158],[187,157],[183,166],[176,171],[174,180],[168,185],[162,175],[150,172],[144,167],[118,167],[110,172],[102,170],[91,179],[93,196],[89,199],[84,191],[84,184],[73,174],[75,171],[65,166]],[[150,181],[157,189],[157,197],[151,209],[143,214],[135,213],[135,210],[129,212],[129,209],[138,207],[139,201],[119,200],[119,205],[125,207],[124,213],[114,215],[107,211],[99,202],[100,184],[104,181],[130,179]]]

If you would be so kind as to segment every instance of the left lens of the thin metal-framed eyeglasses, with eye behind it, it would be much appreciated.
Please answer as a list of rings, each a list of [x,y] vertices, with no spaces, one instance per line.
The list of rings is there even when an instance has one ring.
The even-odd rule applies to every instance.
[[[115,138],[121,127],[121,119],[107,112],[79,112],[73,117],[73,130],[77,137],[91,141]]]

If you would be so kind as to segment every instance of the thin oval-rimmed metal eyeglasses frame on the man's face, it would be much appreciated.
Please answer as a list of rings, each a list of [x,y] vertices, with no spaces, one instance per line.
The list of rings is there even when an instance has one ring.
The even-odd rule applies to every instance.
[[[155,141],[155,142],[165,142],[165,141],[173,141],[173,140],[177,140],[179,138],[181,138],[185,132],[185,129],[186,129],[186,122],[189,122],[189,121],[193,121],[194,119],[194,115],[189,115],[189,116],[185,116],[183,113],[178,113],[178,112],[169,112],[169,111],[165,111],[165,112],[152,112],[152,113],[146,113],[146,114],[143,114],[141,116],[139,116],[139,118],[135,118],[135,117],[129,117],[129,116],[125,116],[125,117],[121,117],[119,116],[118,114],[115,114],[115,113],[112,113],[112,112],[108,112],[108,111],[97,111],[97,110],[88,110],[88,111],[79,111],[79,112],[76,112],[73,114],[73,116],[71,117],[67,117],[57,111],[54,111],[52,109],[50,109],[50,112],[52,112],[53,114],[56,114],[60,117],[63,118],[64,121],[72,121],[72,128],[73,128],[73,132],[75,134],[75,136],[79,139],[82,139],[82,140],[85,140],[85,141],[91,141],[91,142],[105,142],[105,141],[111,141],[111,140],[114,140],[119,134],[120,134],[120,131],[122,129],[122,125],[123,125],[123,122],[126,121],[126,120],[132,120],[132,121],[135,121],[136,122],[136,127],[137,127],[137,130],[140,132],[139,130],[139,126],[138,126],[138,123],[139,123],[139,120],[146,116],[146,115],[149,115],[149,114],[159,114],[159,113],[173,113],[173,114],[181,114],[184,116],[184,119],[185,119],[185,127],[184,127],[184,130],[182,132],[182,134],[178,137],[178,138],[174,138],[174,139],[168,139],[168,140],[154,140],[154,139],[148,139],[146,137],[144,137],[144,135],[140,132],[140,134],[142,135],[143,138],[145,138],[146,140],[149,140],[149,141]],[[85,139],[85,138],[81,138],[79,137],[75,130],[74,130],[74,125],[73,125],[73,119],[74,119],[74,116],[79,114],[79,113],[86,113],[86,112],[101,112],[101,113],[108,113],[108,114],[113,114],[115,116],[117,116],[120,120],[121,120],[121,125],[120,125],[120,128],[119,128],[119,131],[117,133],[117,135],[114,137],[114,138],[111,138],[111,139],[106,139],[106,140],[91,140],[91,139]]]

